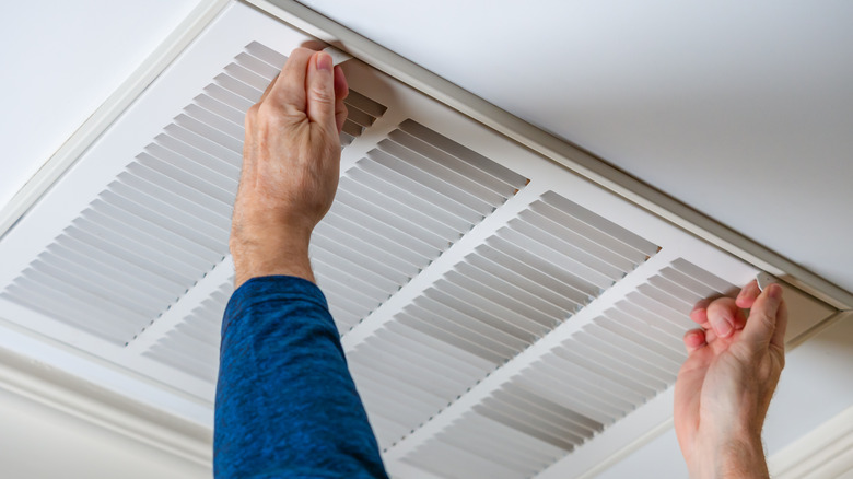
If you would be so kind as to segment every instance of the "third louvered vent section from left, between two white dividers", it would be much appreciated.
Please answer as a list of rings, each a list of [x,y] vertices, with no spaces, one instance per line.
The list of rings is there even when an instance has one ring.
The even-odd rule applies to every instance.
[[[393,330],[349,353],[381,444],[418,428],[657,249],[542,195],[396,315]]]

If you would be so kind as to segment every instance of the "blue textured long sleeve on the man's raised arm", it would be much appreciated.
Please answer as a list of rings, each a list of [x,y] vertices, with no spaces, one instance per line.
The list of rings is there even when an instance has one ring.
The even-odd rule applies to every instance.
[[[387,478],[326,297],[312,282],[246,281],[222,323],[217,478]]]

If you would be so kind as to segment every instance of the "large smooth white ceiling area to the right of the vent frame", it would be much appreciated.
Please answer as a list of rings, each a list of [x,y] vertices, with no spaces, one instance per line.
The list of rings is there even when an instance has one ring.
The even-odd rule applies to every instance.
[[[853,290],[853,3],[302,2]]]

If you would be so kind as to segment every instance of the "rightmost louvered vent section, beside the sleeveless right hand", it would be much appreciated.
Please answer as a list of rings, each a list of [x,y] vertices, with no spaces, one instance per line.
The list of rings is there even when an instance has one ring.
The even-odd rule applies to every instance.
[[[405,460],[441,477],[535,475],[670,387],[693,304],[733,289],[673,261]]]

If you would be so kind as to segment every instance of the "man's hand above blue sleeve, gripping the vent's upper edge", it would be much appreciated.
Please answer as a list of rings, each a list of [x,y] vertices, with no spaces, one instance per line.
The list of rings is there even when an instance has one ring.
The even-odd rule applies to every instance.
[[[229,242],[236,287],[269,274],[314,281],[308,242],[338,188],[348,92],[328,54],[297,48],[246,113]]]

